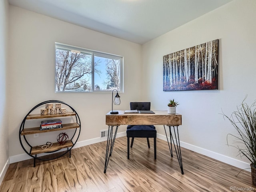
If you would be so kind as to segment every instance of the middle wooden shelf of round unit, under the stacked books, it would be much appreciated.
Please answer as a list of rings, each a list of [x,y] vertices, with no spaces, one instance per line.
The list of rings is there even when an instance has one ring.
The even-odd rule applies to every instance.
[[[62,124],[62,126],[63,126],[62,128],[48,129],[48,130],[40,130],[40,127],[26,128],[26,129],[23,129],[20,134],[21,135],[30,135],[30,134],[35,134],[35,133],[45,133],[45,132],[65,130],[65,129],[74,129],[74,128],[80,127],[80,125],[78,123]]]

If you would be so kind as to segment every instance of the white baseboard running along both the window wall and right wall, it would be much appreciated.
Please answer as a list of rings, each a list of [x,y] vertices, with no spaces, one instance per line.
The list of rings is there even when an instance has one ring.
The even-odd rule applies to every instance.
[[[126,132],[121,132],[121,133],[116,134],[116,138],[122,137],[122,136],[126,136]],[[157,134],[157,138],[167,141],[165,135]],[[102,138],[94,138],[94,139],[90,139],[90,140],[84,140],[84,141],[77,142],[76,145],[74,146],[74,148],[87,146],[87,145],[90,145],[90,144],[94,144],[94,143],[98,143],[98,142],[102,142],[102,141],[106,141],[106,140],[107,140],[106,138],[103,138],[103,139]],[[170,141],[169,137],[168,137],[168,140]],[[176,142],[176,141],[174,141],[174,142]],[[199,154],[208,156],[210,158],[219,160],[221,162],[230,164],[232,166],[241,168],[241,169],[250,168],[249,163],[242,162],[240,160],[236,160],[234,158],[230,158],[228,156],[218,154],[216,152],[212,152],[212,151],[206,150],[204,148],[200,148],[198,146],[194,146],[194,145],[191,145],[191,144],[188,144],[188,143],[185,143],[185,142],[180,142],[180,146],[183,147],[183,148],[186,148],[188,150],[197,152]],[[58,152],[60,152],[60,151],[58,151]],[[43,155],[46,155],[46,154],[40,154],[40,156],[43,156]],[[39,157],[39,155],[38,155],[38,157]],[[11,156],[9,158],[9,162],[10,163],[15,163],[15,162],[19,162],[19,161],[23,161],[23,160],[27,160],[27,159],[31,159],[31,158],[32,157],[30,157],[28,154],[24,153],[24,154],[20,154],[20,155],[16,155],[16,156]],[[7,166],[7,168],[8,168],[8,166]],[[248,169],[248,171],[250,171],[250,169]],[[4,170],[2,171],[2,173],[3,172],[4,172]]]

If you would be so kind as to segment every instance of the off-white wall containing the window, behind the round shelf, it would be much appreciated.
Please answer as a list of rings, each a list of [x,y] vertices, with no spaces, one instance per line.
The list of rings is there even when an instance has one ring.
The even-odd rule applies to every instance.
[[[78,112],[82,125],[78,142],[99,138],[100,130],[108,128],[105,114],[111,110],[112,93],[54,92],[54,42],[124,56],[124,93],[120,93],[121,105],[114,109],[129,108],[130,101],[141,97],[141,45],[10,6],[8,107],[11,157],[25,153],[18,138],[24,116],[36,104],[46,100],[61,100]],[[124,132],[125,128],[120,126],[119,132]],[[46,136],[39,134],[37,141],[43,144]]]

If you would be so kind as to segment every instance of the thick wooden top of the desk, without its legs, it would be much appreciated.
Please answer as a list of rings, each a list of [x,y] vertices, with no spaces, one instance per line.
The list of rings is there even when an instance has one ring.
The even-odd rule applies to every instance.
[[[168,125],[178,126],[182,124],[181,114],[168,114],[167,110],[153,110],[154,114],[124,113],[118,110],[118,114],[106,114],[106,125]]]

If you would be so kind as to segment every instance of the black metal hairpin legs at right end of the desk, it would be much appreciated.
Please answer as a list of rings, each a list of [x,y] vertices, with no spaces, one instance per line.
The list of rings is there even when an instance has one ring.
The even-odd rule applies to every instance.
[[[174,148],[175,148],[175,152],[176,152],[178,162],[179,162],[179,165],[180,165],[181,174],[183,175],[184,172],[183,172],[182,157],[181,157],[181,151],[180,151],[180,138],[179,138],[178,126],[168,126],[168,127],[169,127],[169,131],[170,131],[170,144],[169,144],[169,141],[168,141],[168,136],[167,136],[167,133],[166,133],[166,130],[165,130],[165,126],[164,126],[164,130],[165,130],[168,146],[169,146],[169,149],[170,149],[170,152],[171,152],[171,157],[173,157],[173,155],[172,155],[172,142],[174,144],[174,139],[173,139],[173,136],[172,136],[173,134],[171,132],[171,127],[173,127],[174,136],[175,136],[175,140],[176,140],[176,145],[174,144]],[[176,127],[176,131],[175,131],[175,127]]]

